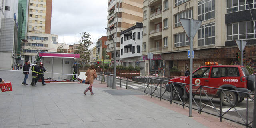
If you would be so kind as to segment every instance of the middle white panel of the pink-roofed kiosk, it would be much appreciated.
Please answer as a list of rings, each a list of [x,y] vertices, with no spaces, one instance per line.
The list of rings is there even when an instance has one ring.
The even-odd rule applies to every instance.
[[[54,73],[60,74],[52,74],[52,79],[54,80],[62,80],[62,58],[53,58],[53,71]]]

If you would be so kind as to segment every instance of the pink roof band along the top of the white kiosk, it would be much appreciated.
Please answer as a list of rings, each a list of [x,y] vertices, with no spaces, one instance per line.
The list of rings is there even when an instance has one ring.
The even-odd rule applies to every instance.
[[[52,52],[40,52],[40,57],[58,57],[58,58],[80,58],[80,54],[73,53],[52,53]]]

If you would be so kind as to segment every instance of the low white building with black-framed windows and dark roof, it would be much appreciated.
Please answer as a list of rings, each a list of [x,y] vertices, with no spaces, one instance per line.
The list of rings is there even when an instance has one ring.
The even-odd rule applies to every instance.
[[[123,66],[145,66],[142,59],[142,23],[123,30],[121,32],[121,56],[120,62]]]

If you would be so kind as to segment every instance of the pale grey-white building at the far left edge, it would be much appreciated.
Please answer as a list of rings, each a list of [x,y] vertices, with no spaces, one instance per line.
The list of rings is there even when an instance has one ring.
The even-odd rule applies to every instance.
[[[18,52],[18,0],[1,0],[0,10],[0,69],[12,69]]]

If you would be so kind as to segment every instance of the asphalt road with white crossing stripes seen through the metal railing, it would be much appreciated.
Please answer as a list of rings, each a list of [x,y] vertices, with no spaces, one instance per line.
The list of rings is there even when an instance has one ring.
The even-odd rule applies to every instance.
[[[120,86],[120,79],[117,79],[116,82],[117,82],[117,86]],[[128,87],[127,87],[128,89],[132,89],[132,90],[143,92],[144,84],[139,84],[138,82],[130,82],[130,81],[128,81],[127,84],[128,84]],[[126,88],[126,80],[122,80],[121,81],[121,85],[122,85],[122,88]],[[152,87],[153,87],[153,91],[154,91],[155,86],[153,85]],[[164,85],[162,85],[162,87],[164,87]],[[145,88],[146,88],[146,84],[145,84]],[[146,92],[148,94],[151,94],[151,84],[150,84],[149,88],[146,89]],[[161,94],[164,93],[164,88],[162,88],[162,90],[160,92],[160,87],[158,87],[154,91],[153,95],[160,97],[160,93]],[[212,98],[212,97],[210,97],[210,98]],[[164,95],[162,96],[162,99],[170,100],[170,93],[166,91],[164,93]],[[194,100],[196,101],[197,105],[193,101],[192,108],[198,109],[198,106],[200,106],[200,96],[195,96]],[[208,98],[206,96],[202,96],[201,100],[202,100],[201,107],[205,106],[202,109],[202,111],[208,112],[210,114],[215,114],[215,115],[219,115],[220,114],[220,99],[219,98],[213,98],[212,99],[212,103],[213,104],[212,103],[208,103]],[[247,110],[246,110],[246,100],[247,99],[245,98],[244,101],[238,103],[237,106],[236,106],[236,109],[234,109],[234,108],[230,109],[229,106],[222,106],[222,114],[224,114],[226,112],[226,114],[223,117],[231,119],[231,120],[235,120],[237,122],[241,122],[242,124],[244,124],[246,122],[246,112],[247,112]],[[185,101],[187,101],[186,106],[189,106],[188,98],[185,98]],[[181,101],[177,101],[177,100],[173,100],[173,102],[182,104]],[[251,122],[252,118],[253,118],[253,107],[254,107],[253,105],[254,104],[253,104],[252,100],[249,99],[248,100],[248,108],[249,108],[248,109],[248,114],[249,114],[248,119],[249,119],[249,122]],[[242,120],[241,116],[242,116],[242,118],[244,119],[245,122]]]

